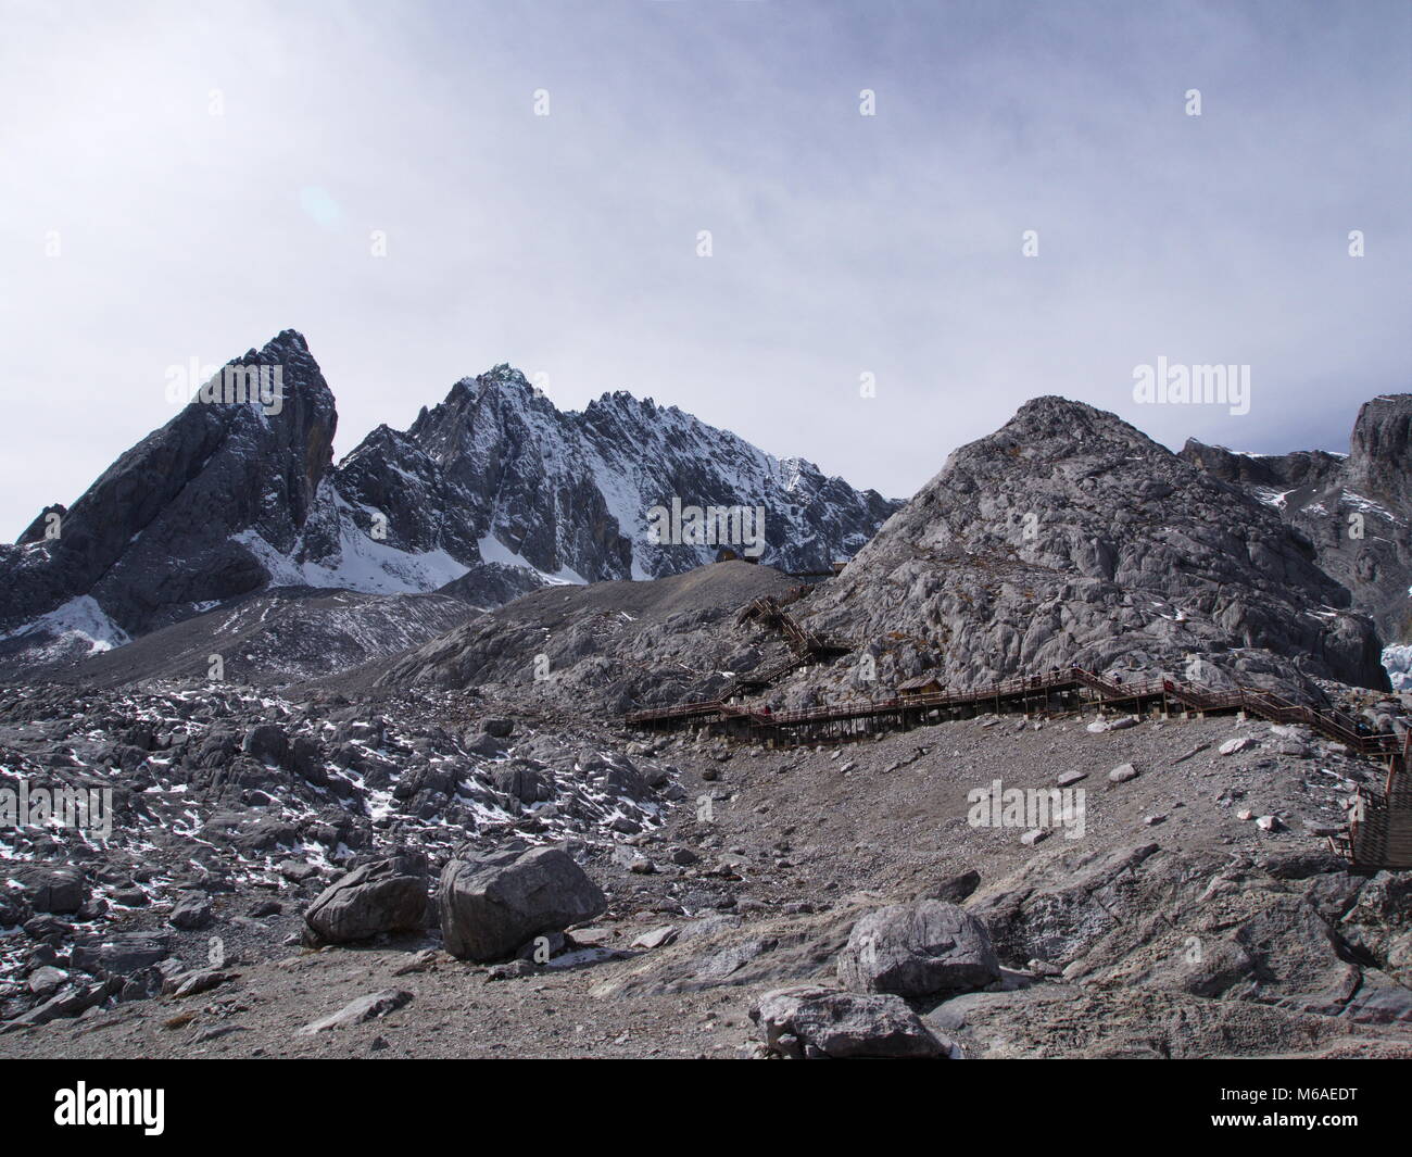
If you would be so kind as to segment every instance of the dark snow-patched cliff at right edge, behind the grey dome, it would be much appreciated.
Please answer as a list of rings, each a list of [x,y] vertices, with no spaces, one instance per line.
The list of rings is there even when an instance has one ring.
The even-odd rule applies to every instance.
[[[1353,592],[1388,643],[1412,641],[1412,394],[1358,410],[1348,456],[1233,453],[1187,441],[1182,458],[1284,518]]]

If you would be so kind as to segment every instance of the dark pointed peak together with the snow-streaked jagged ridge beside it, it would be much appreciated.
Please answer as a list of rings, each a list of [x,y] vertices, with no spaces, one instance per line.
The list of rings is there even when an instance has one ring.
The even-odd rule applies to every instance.
[[[561,413],[508,366],[335,466],[333,394],[302,335],[230,364],[278,366],[281,404],[189,403],[0,547],[0,655],[80,658],[285,586],[443,589],[489,607],[544,582],[686,571],[716,548],[644,535],[672,497],[762,506],[764,558],[820,569],[895,509],[675,407],[617,393]]]

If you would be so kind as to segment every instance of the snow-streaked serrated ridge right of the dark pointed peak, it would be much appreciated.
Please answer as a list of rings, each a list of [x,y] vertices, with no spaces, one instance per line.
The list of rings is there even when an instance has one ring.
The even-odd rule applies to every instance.
[[[371,463],[381,461],[446,492],[473,520],[429,526],[424,511],[377,489]],[[897,509],[651,398],[618,391],[582,413],[559,411],[508,366],[457,381],[405,434],[374,431],[333,485],[354,507],[391,506],[393,526],[411,540],[436,542],[439,531],[452,554],[474,545],[490,561],[575,582],[657,578],[712,561],[713,545],[650,540],[648,511],[674,497],[764,507],[760,559],[785,571],[826,569]]]

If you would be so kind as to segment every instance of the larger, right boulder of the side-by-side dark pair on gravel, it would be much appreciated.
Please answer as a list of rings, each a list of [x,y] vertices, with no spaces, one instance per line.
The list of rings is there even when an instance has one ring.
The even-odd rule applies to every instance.
[[[534,848],[449,860],[436,906],[448,952],[497,961],[532,937],[592,920],[609,904],[566,852]]]

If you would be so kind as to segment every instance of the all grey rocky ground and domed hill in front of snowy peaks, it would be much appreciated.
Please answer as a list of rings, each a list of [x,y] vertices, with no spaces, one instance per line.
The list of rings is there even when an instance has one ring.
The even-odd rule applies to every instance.
[[[469,452],[446,431],[487,390],[418,452]],[[1360,424],[1391,465],[1326,483],[1371,470],[1406,517],[1396,421]],[[520,564],[481,559],[504,605],[265,585],[31,667],[0,691],[0,1055],[1412,1057],[1406,873],[1329,843],[1387,766],[1303,726],[774,749],[623,722],[781,667],[740,617],[768,596],[849,650],[760,704],[1077,663],[1402,735],[1382,612],[1221,461],[1036,398],[813,585],[724,561],[511,598]],[[44,822],[35,788],[110,798],[106,828]],[[6,793],[31,811],[6,824]]]

